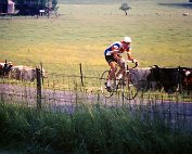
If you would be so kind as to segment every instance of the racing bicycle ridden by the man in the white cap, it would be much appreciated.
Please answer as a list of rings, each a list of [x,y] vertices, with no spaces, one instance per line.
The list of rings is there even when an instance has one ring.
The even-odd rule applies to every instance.
[[[128,63],[130,63],[130,61],[125,62],[124,74],[121,79],[119,80],[116,79],[116,74],[118,72],[117,69],[119,69],[118,64],[116,64],[116,73],[112,79],[110,91],[107,90],[106,81],[108,79],[108,73],[111,72],[111,69],[104,70],[101,75],[100,89],[105,98],[111,98],[114,93],[121,93],[121,95],[127,100],[133,100],[137,97],[139,81],[137,75],[131,72],[131,69],[136,68],[138,66],[138,63],[135,63],[132,67],[129,67]]]

